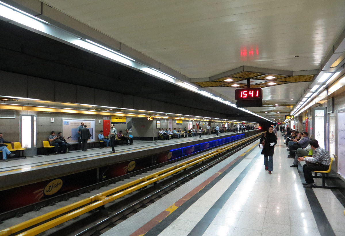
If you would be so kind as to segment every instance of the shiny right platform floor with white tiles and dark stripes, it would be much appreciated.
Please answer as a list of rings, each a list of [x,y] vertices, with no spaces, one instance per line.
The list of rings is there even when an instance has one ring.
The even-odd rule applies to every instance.
[[[102,236],[345,235],[338,190],[303,188],[279,134],[272,175],[260,153],[258,142],[247,146]]]

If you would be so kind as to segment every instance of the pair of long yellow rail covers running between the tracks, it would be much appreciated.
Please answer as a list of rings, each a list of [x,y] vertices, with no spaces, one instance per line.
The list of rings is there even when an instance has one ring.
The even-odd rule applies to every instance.
[[[211,152],[203,154],[201,156],[186,160],[186,161],[179,163],[175,166],[171,166],[171,167],[168,167],[166,169],[157,171],[153,174],[147,175],[145,177],[133,180],[127,184],[123,184],[121,186],[109,189],[107,191],[103,191],[100,194],[85,198],[85,199],[80,200],[76,203],[73,203],[73,204],[67,205],[65,207],[61,207],[59,209],[53,210],[52,212],[49,212],[49,213],[46,213],[44,215],[41,215],[41,216],[35,217],[33,219],[27,220],[27,221],[22,222],[18,225],[14,225],[14,226],[11,226],[7,229],[3,229],[0,231],[0,236],[9,236],[9,235],[14,234],[16,232],[19,232],[23,229],[26,229],[26,228],[31,227],[33,225],[39,224],[39,223],[44,222],[46,220],[49,220],[53,217],[56,217],[56,216],[61,215],[63,213],[69,212],[73,209],[79,208],[83,205],[89,204],[89,205],[81,207],[81,208],[79,208],[73,212],[70,212],[66,215],[60,216],[56,219],[50,220],[49,222],[42,224],[42,225],[36,226],[32,229],[29,229],[29,230],[27,230],[27,231],[25,231],[25,232],[23,232],[17,236],[34,236],[34,235],[37,235],[37,234],[42,233],[42,232],[44,232],[50,228],[57,226],[59,224],[67,222],[70,219],[73,219],[77,216],[80,216],[80,215],[86,213],[86,212],[89,212],[93,209],[96,209],[100,206],[103,206],[107,203],[110,203],[111,201],[114,201],[114,200],[116,200],[122,196],[125,196],[129,193],[132,193],[132,192],[134,192],[140,188],[143,188],[143,187],[148,186],[152,183],[155,183],[158,180],[161,180],[161,179],[166,178],[172,174],[175,174],[181,170],[184,170],[190,166],[198,164],[203,160],[206,160],[210,157],[213,157],[215,155],[223,153],[224,151],[226,151],[230,148],[233,148],[239,144],[242,144],[243,142],[246,142],[249,139],[253,139],[259,135],[261,135],[261,133],[254,135],[254,136],[251,136],[250,138],[246,138],[246,139],[243,139],[241,141],[238,141],[235,144],[230,144],[228,146],[216,149],[215,151],[211,151]],[[113,195],[111,195],[111,194],[113,194]],[[111,196],[109,196],[109,195],[111,195]]]

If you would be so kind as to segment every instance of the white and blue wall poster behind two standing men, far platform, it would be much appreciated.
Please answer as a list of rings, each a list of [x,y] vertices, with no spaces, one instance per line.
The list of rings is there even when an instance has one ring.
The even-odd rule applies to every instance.
[[[78,142],[77,129],[84,122],[91,134],[89,141],[95,141],[95,120],[67,120],[62,119],[62,136],[67,142]]]

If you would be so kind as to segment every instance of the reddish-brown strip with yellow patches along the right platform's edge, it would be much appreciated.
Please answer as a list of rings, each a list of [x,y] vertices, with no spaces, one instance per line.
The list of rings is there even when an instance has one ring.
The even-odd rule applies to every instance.
[[[217,178],[220,174],[222,174],[226,169],[228,169],[230,166],[232,166],[237,160],[245,156],[249,151],[251,151],[253,148],[257,147],[257,144],[250,147],[248,150],[246,150],[243,154],[236,157],[234,160],[232,160],[228,165],[221,168],[217,173],[206,179],[203,183],[198,185],[196,188],[191,190],[188,194],[181,197],[179,200],[177,200],[174,204],[169,206],[167,209],[165,209],[163,212],[159,213],[156,217],[152,218],[149,222],[147,222],[145,225],[143,225],[141,228],[137,229],[134,233],[132,233],[130,236],[142,236],[145,235],[150,229],[155,227],[159,222],[164,220],[167,216],[169,216],[172,212],[174,212],[176,209],[178,209],[182,204],[184,204],[187,200],[189,200],[191,197],[193,197],[196,193],[198,193],[201,189],[203,189],[206,185],[208,185],[212,180]]]

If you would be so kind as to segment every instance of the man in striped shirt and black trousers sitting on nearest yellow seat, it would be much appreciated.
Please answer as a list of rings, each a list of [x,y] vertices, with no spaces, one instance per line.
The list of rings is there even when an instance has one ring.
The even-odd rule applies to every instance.
[[[331,157],[327,151],[319,146],[316,139],[309,142],[312,150],[312,157],[299,157],[299,161],[308,161],[311,164],[303,165],[303,174],[306,183],[302,183],[303,187],[312,188],[315,186],[312,171],[326,171],[331,164]]]

